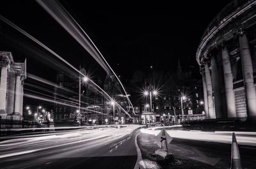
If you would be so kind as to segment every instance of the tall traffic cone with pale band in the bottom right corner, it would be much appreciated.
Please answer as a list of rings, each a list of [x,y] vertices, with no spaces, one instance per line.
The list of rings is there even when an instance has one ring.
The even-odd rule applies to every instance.
[[[243,169],[235,133],[232,133],[231,166],[230,169]]]

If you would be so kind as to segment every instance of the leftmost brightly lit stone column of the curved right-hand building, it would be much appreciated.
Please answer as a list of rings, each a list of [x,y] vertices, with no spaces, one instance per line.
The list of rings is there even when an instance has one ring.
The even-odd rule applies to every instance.
[[[207,90],[207,101],[208,101],[208,113],[209,119],[215,119],[216,116],[213,110],[213,100],[212,100],[212,80],[211,73],[209,70],[209,65],[207,62],[204,64],[205,66],[205,82],[206,82],[206,90]]]

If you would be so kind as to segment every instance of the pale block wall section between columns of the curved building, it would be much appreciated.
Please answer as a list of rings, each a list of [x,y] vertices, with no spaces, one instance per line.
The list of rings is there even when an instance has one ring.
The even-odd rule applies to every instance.
[[[237,117],[247,117],[246,114],[246,101],[244,89],[234,91],[236,99],[236,114]]]

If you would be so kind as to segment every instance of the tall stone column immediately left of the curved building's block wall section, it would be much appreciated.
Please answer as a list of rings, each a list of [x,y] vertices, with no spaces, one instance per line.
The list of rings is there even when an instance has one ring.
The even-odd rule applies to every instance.
[[[236,117],[236,100],[233,90],[233,75],[227,47],[221,49],[223,62],[223,75],[228,117]]]

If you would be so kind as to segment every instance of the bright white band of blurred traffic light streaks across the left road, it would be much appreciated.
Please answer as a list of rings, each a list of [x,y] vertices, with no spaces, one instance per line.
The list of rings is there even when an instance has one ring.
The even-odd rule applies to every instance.
[[[8,140],[0,142],[0,159],[26,159],[28,156],[38,158],[40,154],[44,154],[44,159],[54,159],[55,156],[58,158],[102,156],[102,153],[111,156],[112,152],[109,154],[109,150],[113,149],[114,146],[116,149],[122,143],[129,141],[130,137],[125,139],[123,137],[131,134],[134,129],[139,127],[139,125],[125,125],[122,129],[106,127],[91,130],[66,130],[63,133],[43,133],[36,136],[26,135],[20,136],[20,138],[19,136],[6,136],[4,139],[7,138]],[[106,144],[112,146],[99,153],[100,149],[106,147]],[[123,156],[122,152],[118,152],[120,156]]]

